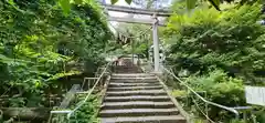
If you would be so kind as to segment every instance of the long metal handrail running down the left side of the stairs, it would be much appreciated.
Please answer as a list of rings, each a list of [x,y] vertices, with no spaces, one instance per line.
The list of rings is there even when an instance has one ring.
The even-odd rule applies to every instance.
[[[52,119],[52,114],[67,114],[67,120],[70,120],[70,117],[72,116],[73,113],[75,113],[75,111],[77,111],[82,105],[85,104],[85,102],[89,99],[92,92],[95,90],[95,88],[97,86],[97,84],[100,82],[100,79],[104,76],[104,74],[106,73],[108,66],[112,64],[113,62],[108,62],[104,69],[104,71],[102,72],[102,74],[98,76],[96,83],[94,84],[94,86],[88,91],[85,100],[83,100],[82,102],[77,103],[77,106],[74,110],[63,110],[63,111],[51,111],[50,114],[50,119],[49,119],[49,123],[50,120]]]

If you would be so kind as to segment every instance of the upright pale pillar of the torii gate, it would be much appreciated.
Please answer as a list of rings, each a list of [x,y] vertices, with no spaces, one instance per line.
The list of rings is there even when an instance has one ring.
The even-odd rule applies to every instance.
[[[153,59],[155,59],[155,71],[160,72],[160,57],[159,57],[159,39],[158,39],[158,18],[157,14],[153,14],[153,24],[152,24],[152,43],[153,43]]]

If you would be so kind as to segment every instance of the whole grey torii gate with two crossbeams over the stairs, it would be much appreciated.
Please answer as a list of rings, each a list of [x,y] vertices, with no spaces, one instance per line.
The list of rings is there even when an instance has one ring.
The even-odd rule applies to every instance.
[[[171,12],[167,11],[167,10],[147,10],[147,9],[139,9],[139,8],[110,6],[110,4],[104,4],[104,6],[108,11],[152,16],[152,19],[134,19],[134,18],[109,17],[108,20],[109,21],[128,22],[128,23],[142,23],[142,24],[152,25],[155,72],[159,72],[160,60],[159,60],[158,25],[165,25],[165,23],[159,21],[158,17],[170,17]]]

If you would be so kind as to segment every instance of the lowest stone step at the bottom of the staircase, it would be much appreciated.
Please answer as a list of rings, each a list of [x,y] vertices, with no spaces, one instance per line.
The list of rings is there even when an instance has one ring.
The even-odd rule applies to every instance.
[[[104,117],[102,123],[187,123],[182,115]]]

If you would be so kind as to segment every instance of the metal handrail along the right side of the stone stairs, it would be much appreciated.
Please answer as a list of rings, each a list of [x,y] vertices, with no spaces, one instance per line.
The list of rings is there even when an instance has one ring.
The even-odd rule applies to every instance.
[[[183,82],[181,79],[179,79],[178,76],[174,75],[174,73],[170,72],[168,69],[166,69],[165,66],[161,66],[165,71],[167,71],[169,74],[171,74],[174,79],[177,79],[181,84],[183,84],[189,91],[191,91],[193,94],[195,94],[200,100],[202,100],[204,103],[208,103],[208,104],[211,104],[211,105],[214,105],[214,106],[218,106],[218,107],[221,107],[221,109],[224,109],[226,111],[230,111],[232,113],[235,114],[235,117],[239,119],[240,117],[240,113],[233,109],[233,107],[229,107],[229,106],[225,106],[225,105],[221,105],[221,104],[218,104],[218,103],[214,103],[214,102],[211,102],[211,101],[208,101],[205,100],[204,98],[202,98],[200,94],[198,94],[191,86],[189,86],[186,82]]]

